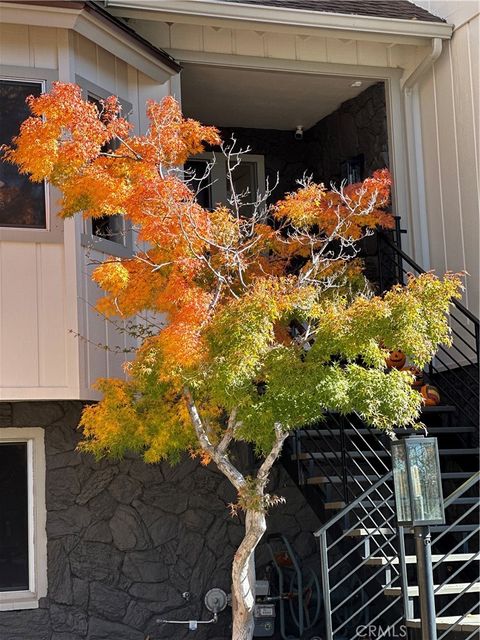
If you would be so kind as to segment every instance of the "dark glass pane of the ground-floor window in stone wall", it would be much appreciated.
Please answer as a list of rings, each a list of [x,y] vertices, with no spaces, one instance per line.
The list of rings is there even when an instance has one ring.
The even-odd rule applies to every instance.
[[[27,444],[0,444],[0,591],[28,588]]]

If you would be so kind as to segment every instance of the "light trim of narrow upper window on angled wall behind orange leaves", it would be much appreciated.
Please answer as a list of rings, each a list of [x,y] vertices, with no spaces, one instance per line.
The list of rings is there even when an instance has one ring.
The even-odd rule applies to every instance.
[[[83,89],[86,95],[97,100],[105,100],[112,95],[111,91],[107,91],[102,87],[90,82],[82,76],[76,75],[75,82]],[[121,96],[117,96],[120,104],[122,105],[122,112],[124,116],[127,116],[132,111],[132,104],[124,100]],[[108,255],[117,256],[119,258],[129,258],[133,254],[133,230],[131,223],[124,218],[124,243],[114,242],[113,240],[107,240],[106,238],[99,238],[93,234],[92,221],[90,218],[84,220],[83,233],[80,236],[80,240],[83,247],[92,251],[99,251],[101,253],[107,253]]]

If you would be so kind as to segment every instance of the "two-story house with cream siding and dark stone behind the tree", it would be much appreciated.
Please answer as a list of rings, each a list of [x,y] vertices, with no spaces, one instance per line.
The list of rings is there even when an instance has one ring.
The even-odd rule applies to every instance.
[[[470,614],[478,613],[469,600],[478,551],[471,480],[478,446],[478,3],[25,0],[0,4],[0,34],[2,143],[26,115],[25,96],[59,79],[77,82],[91,100],[118,95],[137,130],[145,127],[146,99],[176,96],[187,115],[250,147],[235,176],[239,185],[262,189],[279,172],[275,196],[293,189],[305,171],[328,182],[390,168],[393,211],[406,234],[401,251],[399,233],[365,247],[372,277],[391,282],[419,267],[470,274],[452,321],[455,346],[427,372],[445,406],[426,416],[432,433],[446,438],[446,493],[467,482],[452,498],[453,533],[438,532],[438,553],[461,547],[468,564],[455,564],[451,552],[447,573],[460,576],[466,593],[454,593],[466,602],[459,596],[462,608],[439,621],[439,628],[456,624],[452,633],[468,637]],[[192,160],[192,168],[208,159]],[[156,621],[206,619],[206,591],[228,591],[241,533],[225,509],[222,479],[193,461],[148,467],[134,457],[95,462],[75,451],[81,407],[98,399],[92,382],[122,375],[130,346],[125,333],[92,311],[97,291],[89,271],[106,255],[128,255],[131,230],[119,220],[60,222],[53,189],[33,187],[11,168],[1,171],[0,639],[186,637],[186,626]],[[215,171],[205,194],[212,202],[227,192],[221,163]],[[110,350],[98,349],[104,344]],[[315,563],[309,532],[320,527],[337,558],[347,557],[348,549],[335,546],[342,533],[331,514],[348,515],[351,537],[365,550],[371,542],[373,551],[357,564],[331,566],[336,560],[322,547],[331,590],[338,584],[343,594],[323,603],[331,610],[323,608],[316,623],[323,637],[366,637],[365,624],[380,637],[380,626],[384,632],[405,616],[414,634],[418,612],[394,582],[392,516],[374,505],[365,525],[352,507],[363,504],[363,491],[368,502],[391,500],[387,483],[377,484],[389,473],[388,447],[354,419],[337,421],[332,416],[326,431],[306,434],[301,449],[297,443],[291,451],[298,463],[292,476],[304,493],[277,471],[289,503],[273,514],[271,530],[287,533]],[[342,433],[348,442],[339,440]],[[355,451],[370,461],[369,470]],[[339,455],[341,472],[332,469]],[[317,513],[308,504],[315,487]],[[387,536],[383,547],[376,528]],[[452,545],[444,549],[449,535]],[[377,557],[379,546],[389,553]],[[345,575],[354,585],[350,599]],[[228,637],[228,613],[197,636]]]

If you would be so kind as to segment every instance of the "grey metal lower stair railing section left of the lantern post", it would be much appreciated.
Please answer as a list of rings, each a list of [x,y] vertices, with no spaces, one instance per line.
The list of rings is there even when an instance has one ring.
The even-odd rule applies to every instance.
[[[320,545],[325,640],[343,640],[350,636],[353,640],[357,637],[357,628],[365,621],[371,625],[379,619],[388,620],[390,627],[403,621],[403,593],[395,598],[387,598],[384,595],[386,587],[394,585],[397,581],[402,583],[403,580],[403,563],[394,561],[398,557],[393,543],[395,538],[389,538],[383,531],[390,530],[392,536],[395,536],[395,513],[390,505],[386,504],[387,500],[393,497],[393,490],[389,485],[391,479],[391,471],[379,477],[315,533]],[[390,515],[383,513],[386,508],[391,511]],[[363,515],[360,514],[361,517],[357,513],[358,510],[364,512]],[[349,515],[355,515],[354,524],[340,533],[341,523],[345,522],[348,519],[346,516]],[[364,527],[367,534],[364,539],[345,551],[343,542],[354,534],[355,530],[360,529],[361,532]],[[377,541],[373,542],[372,538]],[[403,542],[403,536],[400,540]],[[360,553],[362,547],[363,554]],[[400,552],[404,554],[402,545]],[[385,564],[367,575],[364,569],[373,555],[382,557]],[[341,578],[337,579],[336,573],[339,573]],[[382,573],[384,580],[381,580]],[[344,590],[337,598],[337,590],[341,590],[344,583],[348,585],[347,594],[344,595]],[[352,588],[352,584],[357,583],[359,586]]]

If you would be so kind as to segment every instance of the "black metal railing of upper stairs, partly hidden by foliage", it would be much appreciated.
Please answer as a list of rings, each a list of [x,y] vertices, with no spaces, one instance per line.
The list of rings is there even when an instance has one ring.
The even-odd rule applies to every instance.
[[[397,229],[394,242],[383,231],[377,233],[380,293],[395,282],[405,284],[410,273],[425,273],[399,246]],[[453,344],[441,346],[429,365],[430,382],[439,388],[442,400],[457,408],[466,425],[479,427],[480,323],[473,313],[452,300],[449,316]]]

